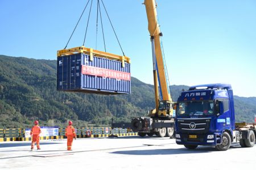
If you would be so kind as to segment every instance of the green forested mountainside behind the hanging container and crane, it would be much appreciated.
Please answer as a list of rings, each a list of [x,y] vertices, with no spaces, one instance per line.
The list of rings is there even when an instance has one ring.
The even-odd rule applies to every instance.
[[[77,126],[109,125],[110,119],[130,121],[130,117],[153,109],[154,86],[131,78],[131,94],[105,96],[56,91],[56,60],[35,60],[0,55],[0,127],[40,125],[65,126],[71,119]],[[173,85],[176,101],[182,89]],[[237,121],[253,122],[256,98],[235,96]]]

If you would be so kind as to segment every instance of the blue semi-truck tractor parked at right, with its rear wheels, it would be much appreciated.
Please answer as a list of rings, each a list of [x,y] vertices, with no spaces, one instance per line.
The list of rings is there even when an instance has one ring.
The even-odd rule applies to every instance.
[[[253,147],[255,129],[235,125],[233,90],[230,84],[191,86],[176,103],[176,143],[188,149],[216,146],[228,150],[232,142]]]

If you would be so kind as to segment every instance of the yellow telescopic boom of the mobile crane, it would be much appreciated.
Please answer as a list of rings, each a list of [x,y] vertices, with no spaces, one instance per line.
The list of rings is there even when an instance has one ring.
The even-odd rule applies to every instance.
[[[155,75],[154,73],[154,79],[156,78],[156,76],[159,76],[158,78],[156,78],[156,80],[154,80],[155,91],[158,90],[157,80],[159,80],[160,92],[162,93],[163,101],[172,102],[170,92],[168,90],[169,87],[167,85],[166,73],[164,71],[164,61],[163,61],[161,45],[160,45],[160,36],[162,36],[162,33],[160,32],[160,28],[157,20],[156,3],[155,3],[155,0],[144,0],[144,5],[146,6],[146,12],[147,12],[148,31],[150,32],[151,42],[154,43],[154,50],[152,51],[155,52],[156,67],[158,71],[158,75],[157,74]],[[154,57],[154,54],[153,54],[153,57]],[[155,92],[155,94],[157,93]],[[158,96],[156,98],[158,98]],[[158,106],[158,102],[156,103],[156,106]]]

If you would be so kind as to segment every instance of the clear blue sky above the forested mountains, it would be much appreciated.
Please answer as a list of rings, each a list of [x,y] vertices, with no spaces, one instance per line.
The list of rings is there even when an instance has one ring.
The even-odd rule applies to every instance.
[[[0,54],[56,59],[68,41],[87,0],[0,1]],[[152,84],[150,36],[143,0],[105,0],[105,6],[132,76]],[[170,83],[196,85],[226,82],[234,94],[256,97],[256,1],[159,0]],[[68,48],[82,45],[86,9]],[[106,14],[102,19],[108,52],[122,55]],[[85,46],[96,48],[96,1],[92,6]],[[104,51],[101,28],[97,49]]]

